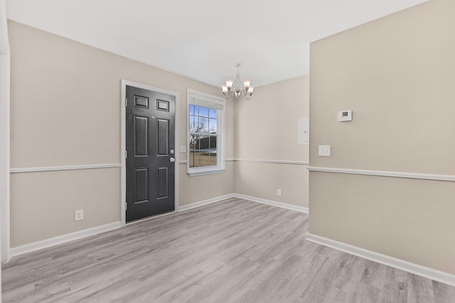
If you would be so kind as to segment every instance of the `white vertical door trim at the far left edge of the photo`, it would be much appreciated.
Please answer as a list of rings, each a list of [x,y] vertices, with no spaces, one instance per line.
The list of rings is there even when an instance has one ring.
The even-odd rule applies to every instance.
[[[9,227],[10,67],[6,1],[0,0],[0,228],[1,262],[11,259]],[[0,286],[1,291],[1,286]],[[0,298],[1,302],[1,298]]]

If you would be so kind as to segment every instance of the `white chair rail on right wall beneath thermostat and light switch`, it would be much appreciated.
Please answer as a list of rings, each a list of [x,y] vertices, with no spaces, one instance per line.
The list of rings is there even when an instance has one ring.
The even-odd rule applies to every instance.
[[[430,174],[417,174],[414,172],[385,172],[382,170],[351,170],[346,168],[333,168],[333,167],[307,167],[310,172],[334,172],[349,175],[368,175],[380,177],[398,177],[408,179],[421,179],[421,180],[437,180],[437,181],[451,181],[455,182],[454,175],[430,175]]]

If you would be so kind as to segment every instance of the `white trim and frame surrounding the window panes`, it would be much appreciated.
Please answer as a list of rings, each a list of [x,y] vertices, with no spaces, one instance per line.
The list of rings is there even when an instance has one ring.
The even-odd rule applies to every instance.
[[[207,166],[207,167],[190,167],[190,130],[189,130],[189,116],[190,116],[190,104],[191,98],[194,96],[203,101],[212,102],[218,106],[222,106],[221,113],[218,114],[218,128],[221,129],[218,133],[218,165]],[[219,111],[217,111],[219,113]],[[187,89],[186,94],[186,172],[190,177],[200,175],[218,174],[225,171],[225,132],[226,132],[226,106],[225,99],[222,97],[216,97],[211,94],[205,94],[198,92],[193,89]]]

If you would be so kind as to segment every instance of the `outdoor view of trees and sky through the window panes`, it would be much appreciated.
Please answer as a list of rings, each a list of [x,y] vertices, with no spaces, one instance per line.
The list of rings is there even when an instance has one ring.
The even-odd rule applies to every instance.
[[[190,104],[190,167],[217,165],[216,109]]]

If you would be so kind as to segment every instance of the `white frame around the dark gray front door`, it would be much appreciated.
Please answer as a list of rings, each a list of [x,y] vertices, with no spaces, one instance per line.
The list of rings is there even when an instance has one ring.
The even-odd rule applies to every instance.
[[[129,80],[122,79],[122,92],[120,94],[120,121],[121,121],[121,142],[120,142],[120,163],[121,168],[121,177],[120,177],[120,218],[122,226],[127,224],[127,159],[125,159],[125,150],[127,149],[127,106],[125,106],[125,99],[127,99],[127,85],[130,87],[138,87],[140,89],[148,89],[154,92],[161,92],[164,94],[170,94],[171,96],[176,97],[176,111],[174,113],[175,129],[174,129],[174,138],[176,142],[176,165],[175,167],[175,192],[174,192],[174,211],[178,211],[178,163],[180,155],[178,153],[178,146],[180,145],[180,140],[178,136],[178,130],[180,129],[180,101],[178,92],[171,92],[166,89],[160,89],[158,87],[151,87],[146,84],[141,84]]]

